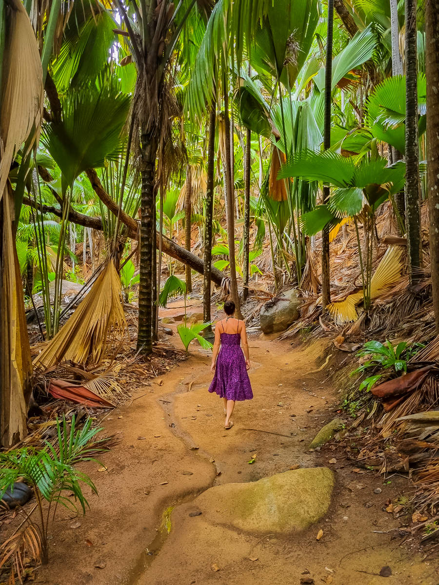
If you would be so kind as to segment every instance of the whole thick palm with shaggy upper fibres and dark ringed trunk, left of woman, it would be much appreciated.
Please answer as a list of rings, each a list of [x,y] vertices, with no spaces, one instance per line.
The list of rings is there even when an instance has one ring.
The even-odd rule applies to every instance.
[[[197,0],[115,0],[126,29],[131,57],[137,69],[133,107],[140,135],[142,206],[140,213],[140,283],[138,349],[152,352],[153,208],[156,201],[156,157],[171,132],[172,56],[181,30],[193,16]],[[203,3],[201,3],[203,4]],[[197,17],[199,18],[199,17]]]

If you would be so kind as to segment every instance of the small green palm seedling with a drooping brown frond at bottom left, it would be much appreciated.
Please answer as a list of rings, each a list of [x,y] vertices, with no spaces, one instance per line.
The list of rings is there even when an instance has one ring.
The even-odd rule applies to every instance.
[[[18,508],[24,517],[20,528],[0,547],[0,568],[11,564],[11,580],[15,575],[23,582],[24,559],[47,563],[49,529],[58,504],[85,514],[88,502],[82,486],[97,493],[94,483],[85,473],[75,469],[77,463],[95,461],[95,456],[108,450],[107,439],[94,440],[101,428],[91,428],[91,419],[83,428],[76,429],[75,417],[70,428],[66,418],[57,420],[57,438],[54,444],[46,441],[42,449],[23,447],[0,453],[0,498],[19,478],[32,487],[36,504],[30,512]],[[73,496],[74,500],[71,500]],[[46,503],[44,503],[44,500]],[[37,512],[38,519],[32,518]],[[20,525],[20,526],[22,526]]]

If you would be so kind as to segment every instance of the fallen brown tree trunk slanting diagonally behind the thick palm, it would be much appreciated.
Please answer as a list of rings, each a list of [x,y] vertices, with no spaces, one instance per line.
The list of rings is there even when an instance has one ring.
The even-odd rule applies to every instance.
[[[98,181],[99,181],[99,178],[98,178]],[[99,181],[99,183],[100,183],[100,181]],[[97,192],[97,191],[95,190],[95,192]],[[102,185],[101,185],[100,193],[97,193],[97,194],[98,194],[98,197],[100,197],[100,195],[102,195],[102,197],[100,197],[101,201],[104,203],[104,205],[106,205],[106,207],[108,207],[108,209],[114,215],[117,216],[118,210],[119,210],[118,205],[114,201],[112,201],[111,197],[109,197],[109,195],[102,188]],[[35,205],[35,202],[33,202],[28,197],[23,198],[23,203],[26,205],[30,205],[30,207],[39,209],[39,205]],[[63,212],[61,211],[61,209],[59,209],[57,207],[53,207],[52,205],[43,205],[42,211],[44,214],[54,214],[59,218],[61,218],[63,216]],[[90,217],[88,215],[81,214],[78,211],[75,211],[74,209],[71,209],[71,208],[70,208],[70,211],[68,212],[68,220],[71,221],[72,223],[77,223],[77,225],[82,225],[82,226],[84,226],[84,228],[92,228],[92,229],[97,229],[100,231],[102,231],[102,229],[103,229],[102,228],[102,219],[100,217]],[[124,212],[121,212],[120,220],[128,228],[128,237],[137,240],[139,238],[139,236],[138,236],[138,225],[139,225],[138,222],[135,219],[133,219],[131,216],[125,214]],[[158,248],[159,248],[159,234],[157,233],[157,249]],[[168,256],[172,256],[173,258],[175,258],[176,260],[179,260],[180,262],[183,262],[183,264],[187,264],[187,266],[190,266],[191,269],[195,270],[196,272],[198,272],[200,274],[204,273],[203,259],[198,258],[198,256],[196,256],[192,252],[188,252],[188,250],[185,250],[184,248],[182,248],[181,246],[179,246],[178,244],[176,244],[175,242],[173,242],[169,238],[166,238],[166,236],[163,236],[162,252],[164,252]],[[222,284],[222,281],[224,280],[224,278],[227,278],[227,276],[224,274],[224,272],[221,272],[221,270],[218,270],[217,268],[212,266],[211,278],[212,278],[212,281],[214,281],[214,283],[218,287],[220,287]]]

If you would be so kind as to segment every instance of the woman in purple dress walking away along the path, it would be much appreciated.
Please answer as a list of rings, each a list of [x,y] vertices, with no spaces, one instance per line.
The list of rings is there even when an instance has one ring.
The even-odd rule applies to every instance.
[[[215,325],[215,343],[210,368],[214,379],[209,392],[216,392],[224,400],[224,428],[228,430],[233,426],[230,417],[235,401],[250,400],[253,398],[253,393],[247,373],[250,369],[250,358],[245,323],[234,318],[235,303],[233,301],[224,303],[224,312],[227,317]],[[242,349],[239,347],[240,342]],[[221,350],[219,350],[220,345]]]

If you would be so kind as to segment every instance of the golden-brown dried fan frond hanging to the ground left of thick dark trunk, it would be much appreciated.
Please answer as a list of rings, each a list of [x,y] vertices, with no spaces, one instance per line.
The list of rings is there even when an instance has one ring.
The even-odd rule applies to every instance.
[[[109,261],[87,297],[33,364],[46,368],[61,360],[98,364],[107,353],[109,341],[120,342],[125,331],[121,280]]]

